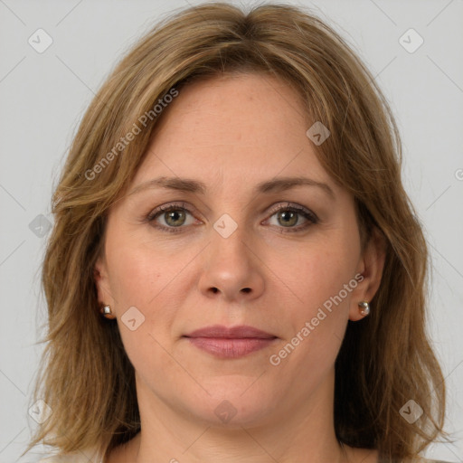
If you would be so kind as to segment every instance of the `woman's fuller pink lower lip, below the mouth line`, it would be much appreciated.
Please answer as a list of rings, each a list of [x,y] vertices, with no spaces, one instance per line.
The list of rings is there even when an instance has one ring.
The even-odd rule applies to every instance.
[[[258,337],[246,337],[240,339],[226,339],[223,337],[188,337],[187,339],[199,349],[216,355],[217,357],[237,358],[250,354],[251,352],[259,351],[271,345],[277,338],[262,339]]]

